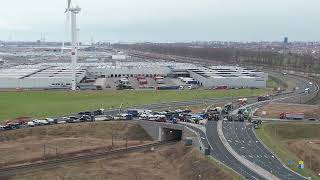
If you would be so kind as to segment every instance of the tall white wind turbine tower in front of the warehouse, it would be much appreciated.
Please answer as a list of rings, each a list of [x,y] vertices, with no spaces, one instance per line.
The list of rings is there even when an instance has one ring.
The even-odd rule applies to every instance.
[[[67,18],[71,13],[71,67],[72,67],[72,90],[76,90],[77,80],[76,80],[76,66],[78,59],[78,29],[77,29],[77,14],[79,14],[81,8],[79,6],[72,7],[71,0],[68,0],[68,6],[66,8],[65,13],[67,14]],[[69,13],[70,12],[70,13]],[[68,21],[67,21],[68,22]]]

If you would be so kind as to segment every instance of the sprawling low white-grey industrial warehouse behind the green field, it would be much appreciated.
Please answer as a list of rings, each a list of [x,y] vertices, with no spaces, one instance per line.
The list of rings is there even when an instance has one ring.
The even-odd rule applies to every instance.
[[[138,85],[148,86],[149,88],[169,85],[179,87],[192,84],[203,88],[226,89],[265,88],[268,74],[238,66],[205,67],[167,61],[133,62],[115,60],[107,63],[78,63],[76,66],[78,87],[91,87],[88,83],[94,85],[96,81],[99,81],[100,85],[103,86],[101,89],[104,89],[110,83],[124,81],[124,78],[128,79],[128,83],[135,78],[142,82],[140,81],[141,77],[147,79],[144,83],[138,83]],[[167,81],[151,83],[159,77]],[[167,84],[166,82],[170,83]],[[71,84],[72,68],[69,63],[19,65],[0,70],[1,89],[69,89]]]

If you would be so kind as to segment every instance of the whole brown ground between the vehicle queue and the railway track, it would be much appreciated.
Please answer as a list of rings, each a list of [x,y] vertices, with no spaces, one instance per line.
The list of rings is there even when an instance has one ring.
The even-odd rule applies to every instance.
[[[0,133],[0,166],[76,156],[151,141],[139,125],[128,122],[64,124],[7,131]]]

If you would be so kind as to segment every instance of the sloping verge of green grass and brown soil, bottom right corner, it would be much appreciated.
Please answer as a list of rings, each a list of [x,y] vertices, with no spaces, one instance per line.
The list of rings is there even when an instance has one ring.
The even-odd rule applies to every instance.
[[[312,179],[320,179],[320,124],[264,124],[256,130],[262,141],[292,170]],[[288,165],[288,161],[292,164]],[[304,160],[305,169],[299,169]],[[312,169],[312,171],[311,171]]]

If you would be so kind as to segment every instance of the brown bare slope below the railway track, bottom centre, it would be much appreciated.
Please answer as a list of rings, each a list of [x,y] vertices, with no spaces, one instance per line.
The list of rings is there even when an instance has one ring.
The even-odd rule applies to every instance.
[[[177,144],[154,151],[68,164],[13,179],[220,180],[233,179],[233,176],[215,167],[197,150]]]

